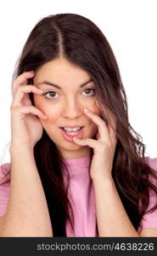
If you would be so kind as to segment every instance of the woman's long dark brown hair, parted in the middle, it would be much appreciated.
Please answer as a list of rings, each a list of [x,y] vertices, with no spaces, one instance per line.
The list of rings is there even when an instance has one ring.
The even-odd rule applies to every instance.
[[[148,212],[149,189],[157,195],[157,188],[149,177],[155,180],[157,177],[146,162],[142,137],[129,123],[126,93],[115,55],[93,21],[76,14],[48,15],[38,21],[27,38],[16,62],[13,79],[26,71],[36,72],[37,68],[59,56],[81,67],[93,78],[102,118],[105,119],[106,108],[116,117],[117,144],[112,177],[126,213],[137,230],[144,213]],[[33,79],[28,79],[28,84],[33,84]],[[32,93],[30,97],[34,104]],[[109,119],[105,120],[109,122]],[[68,219],[74,227],[74,215],[67,197],[68,186],[63,182],[62,170],[67,166],[45,130],[34,147],[34,157],[48,201],[53,236],[66,236]],[[91,160],[92,157],[93,154]],[[156,208],[157,205],[149,211]]]

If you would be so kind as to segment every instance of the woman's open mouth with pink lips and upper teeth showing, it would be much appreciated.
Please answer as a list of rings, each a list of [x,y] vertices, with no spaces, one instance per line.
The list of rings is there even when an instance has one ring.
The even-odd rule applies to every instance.
[[[73,137],[81,138],[84,128],[84,126],[81,126],[80,128],[77,127],[74,129],[60,127],[62,136],[69,142],[73,142]]]

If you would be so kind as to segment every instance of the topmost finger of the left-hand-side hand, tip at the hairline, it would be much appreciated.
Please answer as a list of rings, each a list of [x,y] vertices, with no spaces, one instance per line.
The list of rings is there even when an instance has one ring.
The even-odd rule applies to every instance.
[[[27,84],[28,79],[31,79],[35,73],[33,71],[21,73],[20,76],[14,80],[14,83],[12,84],[12,95],[14,96],[16,90],[20,85]]]

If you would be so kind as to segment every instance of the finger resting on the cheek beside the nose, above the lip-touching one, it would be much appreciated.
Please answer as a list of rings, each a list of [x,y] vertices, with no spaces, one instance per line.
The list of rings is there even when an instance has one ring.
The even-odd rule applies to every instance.
[[[87,114],[87,116],[93,120],[93,122],[98,125],[98,133],[99,133],[99,140],[102,142],[108,142],[109,141],[109,130],[108,127],[103,119],[101,119],[98,115],[92,113],[89,111],[89,109],[85,108],[84,112]]]

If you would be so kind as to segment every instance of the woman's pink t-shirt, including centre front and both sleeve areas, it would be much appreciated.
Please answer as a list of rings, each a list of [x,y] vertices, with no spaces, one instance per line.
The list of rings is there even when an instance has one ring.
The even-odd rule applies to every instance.
[[[146,158],[149,166],[157,171],[157,158]],[[93,182],[89,173],[89,156],[77,159],[65,160],[69,166],[70,186],[68,190],[68,197],[72,204],[74,218],[75,218],[75,234],[70,229],[70,224],[66,224],[66,236],[98,236],[96,229],[97,219],[95,210],[95,197],[93,190]],[[9,169],[10,164],[4,164],[6,169]],[[64,172],[65,174],[66,172]],[[0,166],[0,179],[3,177],[2,168]],[[66,175],[64,181],[66,182]],[[10,183],[0,185],[0,216],[6,212],[9,196]],[[157,186],[157,183],[156,183]],[[150,193],[149,207],[154,206],[156,202],[156,195]],[[141,222],[143,229],[154,228],[157,229],[157,210],[144,215]]]

